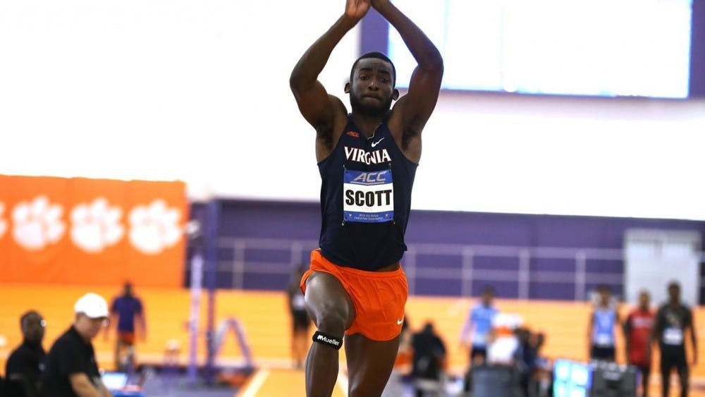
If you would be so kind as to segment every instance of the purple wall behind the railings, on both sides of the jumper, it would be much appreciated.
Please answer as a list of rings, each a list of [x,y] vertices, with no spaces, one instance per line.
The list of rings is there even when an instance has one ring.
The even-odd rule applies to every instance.
[[[214,265],[215,284],[218,288],[281,289],[288,282],[291,262],[298,262],[299,259],[300,262],[306,262],[309,250],[315,248],[303,247],[297,259],[292,259],[286,244],[282,244],[281,249],[247,248],[241,257],[244,267],[238,274],[233,264],[237,254],[231,243],[228,243],[232,238],[315,242],[320,228],[319,206],[317,203],[302,202],[219,200],[216,207],[217,214],[213,217],[217,223],[216,234],[221,240],[214,249],[217,261]],[[192,216],[206,219],[204,208],[202,204],[195,204]],[[705,236],[703,221],[413,211],[406,237],[410,245],[620,250],[623,235],[628,228],[694,230]],[[471,280],[462,277],[460,255],[421,252],[415,255],[414,266],[414,293],[418,295],[462,295],[462,291],[472,291],[472,295],[475,295],[482,286],[491,285],[502,297],[520,297],[520,286],[515,276],[496,276],[501,275],[501,271],[520,271],[517,257],[476,255],[472,266],[479,276]],[[531,280],[524,296],[536,299],[575,299],[575,267],[575,259],[532,257],[528,264]],[[615,293],[622,293],[624,265],[621,259],[588,259],[585,267],[588,274],[593,274],[587,278],[586,291],[590,291],[597,283],[608,283]],[[446,279],[439,278],[437,273],[441,272],[447,275]],[[489,274],[489,279],[482,280],[483,272]],[[562,281],[553,276],[558,273],[563,275]],[[188,285],[188,271],[186,281]],[[701,296],[705,294],[701,293]]]

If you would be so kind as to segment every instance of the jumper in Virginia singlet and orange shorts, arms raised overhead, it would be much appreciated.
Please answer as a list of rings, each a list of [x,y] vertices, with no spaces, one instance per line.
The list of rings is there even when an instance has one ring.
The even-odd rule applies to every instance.
[[[417,67],[399,97],[391,61],[355,61],[345,93],[352,113],[317,80],[341,38],[370,7],[398,30]],[[407,298],[400,259],[421,132],[436,106],[443,59],[424,33],[388,0],[348,0],[343,16],[303,54],[289,80],[299,110],[316,130],[321,174],[320,248],[301,280],[317,331],[306,361],[307,396],[331,396],[338,349],[348,360],[352,397],[379,396],[396,358]],[[396,100],[393,109],[391,103]]]

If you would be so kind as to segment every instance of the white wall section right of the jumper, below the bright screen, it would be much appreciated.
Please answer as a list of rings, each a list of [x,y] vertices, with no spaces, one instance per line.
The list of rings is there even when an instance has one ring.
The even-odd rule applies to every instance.
[[[439,110],[421,207],[705,219],[703,101],[448,94]]]

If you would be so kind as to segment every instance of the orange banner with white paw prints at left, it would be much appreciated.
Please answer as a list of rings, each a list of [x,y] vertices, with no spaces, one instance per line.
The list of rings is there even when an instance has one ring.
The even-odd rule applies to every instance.
[[[179,287],[183,182],[0,175],[0,282]]]

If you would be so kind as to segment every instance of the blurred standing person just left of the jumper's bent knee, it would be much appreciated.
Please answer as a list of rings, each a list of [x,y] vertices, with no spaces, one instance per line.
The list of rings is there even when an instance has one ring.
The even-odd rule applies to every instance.
[[[299,264],[292,274],[287,291],[289,313],[291,315],[291,358],[295,369],[302,369],[309,349],[309,329],[311,319],[306,311],[304,294],[299,286],[306,268]]]

